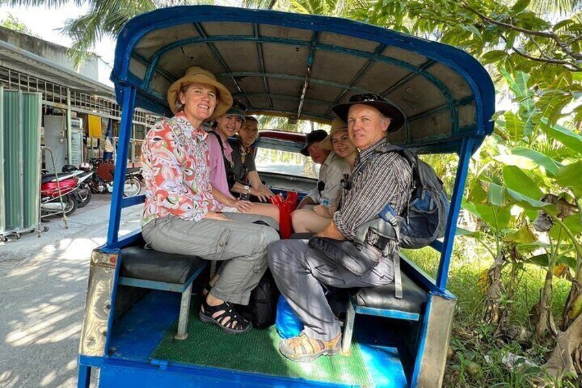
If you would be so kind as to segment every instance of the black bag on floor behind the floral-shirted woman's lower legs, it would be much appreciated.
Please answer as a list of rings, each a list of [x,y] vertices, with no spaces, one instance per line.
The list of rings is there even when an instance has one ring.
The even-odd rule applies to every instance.
[[[277,289],[275,279],[267,269],[261,280],[259,280],[259,284],[251,291],[251,299],[248,301],[248,305],[238,306],[237,311],[253,323],[253,328],[268,328],[275,323],[278,298],[279,289]]]

